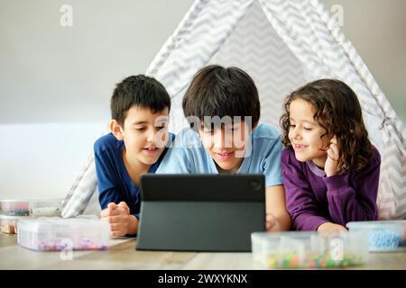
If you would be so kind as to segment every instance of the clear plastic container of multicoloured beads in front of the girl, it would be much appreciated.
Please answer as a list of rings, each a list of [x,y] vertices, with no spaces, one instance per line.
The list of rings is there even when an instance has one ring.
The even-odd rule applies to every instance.
[[[348,231],[254,232],[253,257],[270,269],[360,266],[367,256],[367,237]]]

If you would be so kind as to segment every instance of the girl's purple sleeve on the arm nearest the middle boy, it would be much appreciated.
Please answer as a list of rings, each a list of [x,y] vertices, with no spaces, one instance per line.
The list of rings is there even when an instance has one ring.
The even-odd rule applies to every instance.
[[[286,205],[291,214],[293,229],[317,230],[318,226],[329,220],[318,215],[318,203],[300,162],[291,148],[282,151],[281,160]]]

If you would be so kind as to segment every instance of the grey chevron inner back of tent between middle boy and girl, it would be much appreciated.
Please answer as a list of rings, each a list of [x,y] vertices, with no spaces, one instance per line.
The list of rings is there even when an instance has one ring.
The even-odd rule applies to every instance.
[[[252,76],[260,94],[261,121],[276,127],[285,96],[307,82],[299,59],[272,28],[257,1],[209,64],[242,67]]]

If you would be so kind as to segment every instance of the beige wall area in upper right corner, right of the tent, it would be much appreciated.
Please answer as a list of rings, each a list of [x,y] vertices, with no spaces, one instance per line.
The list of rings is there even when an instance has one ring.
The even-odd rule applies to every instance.
[[[343,31],[406,122],[406,1],[321,0],[343,7]]]

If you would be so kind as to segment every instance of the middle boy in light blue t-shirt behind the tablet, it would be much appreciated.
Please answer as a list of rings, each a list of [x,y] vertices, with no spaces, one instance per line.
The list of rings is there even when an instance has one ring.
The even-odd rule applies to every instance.
[[[281,176],[281,133],[258,123],[254,80],[237,67],[203,67],[182,104],[190,128],[180,132],[156,173],[262,173],[266,229],[290,229]]]

